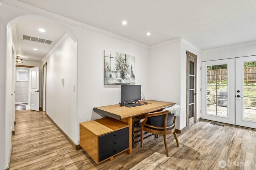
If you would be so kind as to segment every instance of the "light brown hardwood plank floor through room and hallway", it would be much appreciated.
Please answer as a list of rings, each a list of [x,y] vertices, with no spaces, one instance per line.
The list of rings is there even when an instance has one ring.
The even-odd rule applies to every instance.
[[[132,154],[123,152],[114,160],[96,164],[84,150],[74,150],[42,111],[16,111],[15,135],[12,136],[10,169],[256,169],[256,131],[200,121],[182,135],[177,134],[180,147],[168,135],[169,157],[164,140],[154,138],[136,148]],[[230,163],[229,163],[230,162]],[[244,165],[245,162],[245,165]]]

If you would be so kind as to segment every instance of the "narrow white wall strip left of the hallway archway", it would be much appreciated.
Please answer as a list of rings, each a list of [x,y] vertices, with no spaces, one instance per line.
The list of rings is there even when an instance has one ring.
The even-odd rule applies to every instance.
[[[1,22],[0,40],[0,169],[8,166],[14,119],[12,114],[12,30]],[[6,42],[8,42],[6,44]],[[8,68],[8,69],[6,69]]]

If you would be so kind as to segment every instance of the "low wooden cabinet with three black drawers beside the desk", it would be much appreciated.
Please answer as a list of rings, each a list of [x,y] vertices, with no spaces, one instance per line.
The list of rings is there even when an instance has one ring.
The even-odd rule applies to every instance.
[[[80,123],[80,146],[98,164],[129,149],[129,125],[112,118]]]

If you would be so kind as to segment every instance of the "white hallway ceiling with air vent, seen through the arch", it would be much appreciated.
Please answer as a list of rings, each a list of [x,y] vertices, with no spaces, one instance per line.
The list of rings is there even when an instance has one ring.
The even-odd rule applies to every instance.
[[[42,33],[38,31],[39,28],[43,28],[46,31]],[[25,61],[38,62],[42,61],[42,59],[49,53],[65,33],[64,30],[57,25],[42,20],[18,22],[16,23],[16,32],[18,41],[18,50],[16,51],[16,55],[20,55],[20,58]],[[35,41],[23,40],[23,35],[51,40],[52,43],[49,45],[37,43]],[[33,48],[38,50],[34,51]]]

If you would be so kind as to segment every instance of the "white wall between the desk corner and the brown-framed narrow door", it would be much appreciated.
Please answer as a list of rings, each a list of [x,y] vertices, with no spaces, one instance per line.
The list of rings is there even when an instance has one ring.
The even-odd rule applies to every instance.
[[[180,105],[180,39],[150,47],[148,99]],[[180,119],[176,128],[180,129]]]

